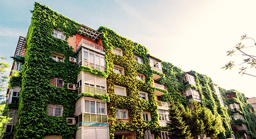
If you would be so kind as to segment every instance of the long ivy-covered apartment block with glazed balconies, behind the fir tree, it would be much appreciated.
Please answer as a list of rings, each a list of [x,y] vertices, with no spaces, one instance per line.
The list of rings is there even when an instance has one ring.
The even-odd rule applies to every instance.
[[[172,98],[191,109],[191,101],[199,101],[221,115],[225,131],[218,137],[231,137],[227,108],[209,77],[184,72],[106,27],[94,30],[38,2],[32,13],[13,58],[21,73],[10,81],[13,121],[3,136],[168,139]]]

